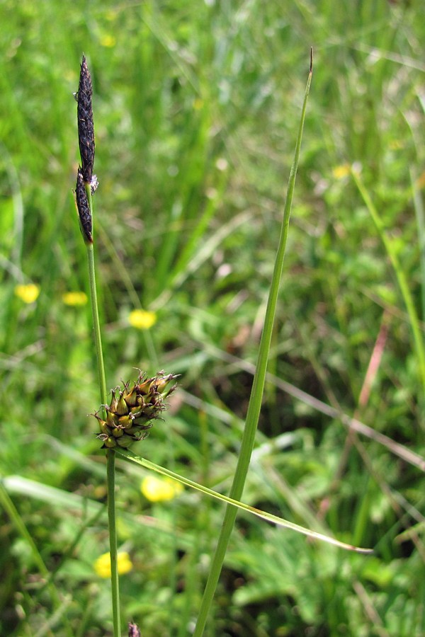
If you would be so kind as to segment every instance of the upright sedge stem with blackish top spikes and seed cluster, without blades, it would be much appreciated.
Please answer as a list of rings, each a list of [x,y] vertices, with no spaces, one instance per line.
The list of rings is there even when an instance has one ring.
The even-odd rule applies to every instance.
[[[135,382],[131,388],[130,382],[128,382],[124,385],[123,389],[119,387],[113,389],[111,401],[109,404],[106,403],[105,365],[103,362],[94,262],[92,195],[94,195],[96,191],[98,181],[96,175],[93,173],[95,140],[94,117],[91,103],[92,94],[91,75],[86,58],[83,56],[79,76],[79,88],[75,95],[77,99],[78,139],[81,156],[81,166],[79,166],[77,170],[75,199],[79,226],[87,249],[91,311],[101,395],[101,409],[99,410],[101,415],[99,415],[99,411],[94,415],[100,427],[98,438],[103,442],[102,448],[106,449],[113,634],[114,637],[119,637],[121,629],[115,514],[115,447],[128,448],[133,442],[142,440],[142,438],[145,437],[147,430],[152,427],[152,421],[159,418],[162,411],[164,411],[164,398],[175,389],[176,385],[170,384],[171,381],[176,379],[176,376],[174,374],[159,372],[156,376],[149,378],[146,374],[140,372],[137,382]],[[131,624],[131,634],[137,634],[137,630],[137,626]]]

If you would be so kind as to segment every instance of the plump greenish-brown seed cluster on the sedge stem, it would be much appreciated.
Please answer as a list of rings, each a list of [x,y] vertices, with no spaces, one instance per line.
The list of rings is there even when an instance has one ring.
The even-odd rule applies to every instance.
[[[104,406],[106,420],[98,412],[94,414],[101,429],[98,438],[103,441],[102,449],[128,448],[133,442],[145,438],[147,430],[154,424],[153,420],[160,418],[166,409],[164,400],[176,389],[177,385],[172,384],[176,378],[175,374],[164,372],[149,378],[140,372],[131,388],[130,381],[124,384],[123,389],[115,387],[111,403]]]

